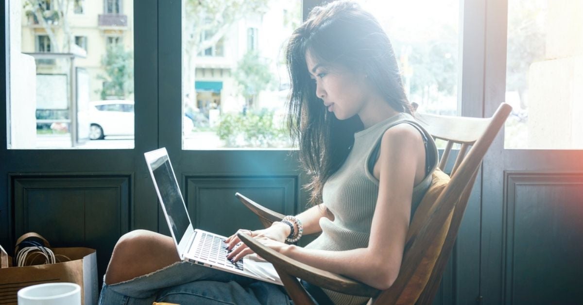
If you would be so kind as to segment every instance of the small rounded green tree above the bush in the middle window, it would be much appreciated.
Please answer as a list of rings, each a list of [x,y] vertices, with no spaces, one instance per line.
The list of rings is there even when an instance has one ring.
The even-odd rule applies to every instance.
[[[269,71],[269,62],[266,58],[260,57],[257,50],[245,53],[238,62],[233,77],[241,86],[241,94],[248,106],[253,104],[259,92],[272,89],[275,85],[275,77]]]

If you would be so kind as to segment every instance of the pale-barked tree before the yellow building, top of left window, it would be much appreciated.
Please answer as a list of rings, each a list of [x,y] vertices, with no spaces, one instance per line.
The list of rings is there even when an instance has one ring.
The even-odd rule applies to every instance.
[[[67,18],[70,4],[71,0],[24,0],[26,15],[33,16],[34,22],[43,26],[51,41],[52,52],[71,52],[74,41]],[[55,35],[57,29],[63,31],[62,48]]]

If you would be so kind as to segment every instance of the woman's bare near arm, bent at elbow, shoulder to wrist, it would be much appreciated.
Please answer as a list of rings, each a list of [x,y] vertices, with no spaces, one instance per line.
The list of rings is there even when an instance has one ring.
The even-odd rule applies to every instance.
[[[414,127],[398,125],[383,135],[377,161],[380,162],[378,199],[367,248],[324,251],[262,242],[313,267],[349,276],[377,289],[389,288],[401,268],[413,184],[424,159],[423,140]]]

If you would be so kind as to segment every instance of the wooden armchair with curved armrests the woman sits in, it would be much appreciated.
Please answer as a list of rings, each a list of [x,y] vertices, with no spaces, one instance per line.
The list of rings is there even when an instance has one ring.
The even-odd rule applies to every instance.
[[[434,138],[447,141],[447,146],[438,165],[440,170],[433,174],[434,181],[409,225],[398,278],[387,290],[380,291],[345,276],[292,260],[262,246],[247,235],[239,234],[239,237],[255,253],[273,264],[287,293],[296,304],[314,304],[297,278],[324,289],[371,297],[369,304],[430,304],[454,247],[482,159],[510,110],[511,107],[503,103],[491,118],[417,114],[427,131]],[[454,143],[461,144],[461,148],[450,180],[441,170],[447,164]],[[259,216],[266,227],[283,218],[283,215],[266,209],[241,194],[237,193],[236,196]]]

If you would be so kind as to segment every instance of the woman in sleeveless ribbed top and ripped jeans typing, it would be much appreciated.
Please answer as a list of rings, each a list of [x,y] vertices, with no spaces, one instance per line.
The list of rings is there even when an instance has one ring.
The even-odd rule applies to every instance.
[[[287,64],[289,127],[311,174],[315,206],[268,229],[239,232],[305,264],[387,289],[401,267],[412,211],[437,165],[433,139],[412,117],[391,43],[370,13],[335,1],[314,8],[294,31]],[[284,243],[299,239],[302,229],[321,235],[305,248]],[[252,253],[236,234],[226,243],[233,261]],[[100,302],[289,302],[276,285],[177,261],[169,237],[124,235]],[[304,285],[321,304],[367,302]]]

